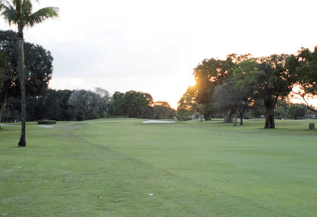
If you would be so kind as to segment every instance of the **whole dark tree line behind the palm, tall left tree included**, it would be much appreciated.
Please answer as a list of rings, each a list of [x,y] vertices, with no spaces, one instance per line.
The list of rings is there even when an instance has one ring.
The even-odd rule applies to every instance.
[[[17,33],[0,30],[0,121],[21,120]],[[148,93],[48,89],[53,57],[40,45],[24,42],[26,72],[26,120],[87,120],[108,116],[171,118],[175,110],[167,102],[154,102]]]

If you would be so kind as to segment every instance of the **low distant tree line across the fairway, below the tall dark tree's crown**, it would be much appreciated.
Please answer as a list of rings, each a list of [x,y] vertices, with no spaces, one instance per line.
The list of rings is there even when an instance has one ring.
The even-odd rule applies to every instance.
[[[12,97],[3,109],[2,122],[20,120],[20,98]],[[126,116],[134,118],[170,119],[175,110],[167,102],[154,102],[148,93],[109,92],[100,87],[89,90],[46,89],[41,95],[26,98],[26,120],[88,120]]]

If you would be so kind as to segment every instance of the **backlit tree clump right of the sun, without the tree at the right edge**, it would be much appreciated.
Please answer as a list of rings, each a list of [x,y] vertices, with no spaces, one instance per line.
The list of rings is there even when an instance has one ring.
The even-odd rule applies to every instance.
[[[203,105],[206,120],[221,111],[224,121],[232,122],[233,114],[239,111],[242,124],[247,110],[261,106],[265,109],[264,128],[274,128],[276,102],[287,97],[294,85],[288,59],[286,54],[258,58],[230,54],[225,60],[204,59],[194,69],[196,85],[180,99],[178,113],[186,110],[188,102],[195,102]]]

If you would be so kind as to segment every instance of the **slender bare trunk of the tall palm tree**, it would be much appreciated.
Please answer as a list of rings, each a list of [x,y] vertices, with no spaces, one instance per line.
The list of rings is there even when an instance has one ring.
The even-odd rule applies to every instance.
[[[19,147],[26,146],[25,141],[25,120],[26,120],[26,100],[25,100],[25,84],[24,84],[24,75],[25,75],[25,62],[24,62],[24,42],[23,42],[23,31],[18,31],[18,49],[19,49],[19,80],[21,87],[21,138],[18,143]]]

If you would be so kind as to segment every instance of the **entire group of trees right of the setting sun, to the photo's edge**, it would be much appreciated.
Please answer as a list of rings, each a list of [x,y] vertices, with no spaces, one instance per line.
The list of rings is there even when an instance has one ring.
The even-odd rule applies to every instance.
[[[226,59],[204,59],[193,75],[196,85],[189,87],[179,100],[179,116],[200,112],[210,120],[221,113],[224,122],[231,123],[234,116],[240,116],[242,123],[246,112],[262,109],[264,128],[274,128],[274,109],[290,93],[300,96],[306,109],[317,113],[307,102],[307,97],[317,95],[317,47],[313,52],[302,48],[296,55],[230,54]],[[294,92],[294,86],[300,91]],[[292,108],[288,114],[293,117],[296,115],[290,113],[305,111],[295,105]]]

